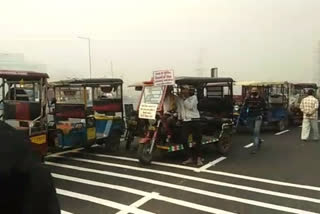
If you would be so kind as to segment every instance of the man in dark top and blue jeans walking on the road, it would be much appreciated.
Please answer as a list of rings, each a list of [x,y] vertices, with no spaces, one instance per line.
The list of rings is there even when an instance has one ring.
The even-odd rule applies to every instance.
[[[265,108],[265,100],[259,95],[258,88],[253,87],[249,97],[244,103],[244,110],[247,112],[248,126],[253,131],[254,149],[251,151],[251,154],[256,154],[260,149],[260,129]]]

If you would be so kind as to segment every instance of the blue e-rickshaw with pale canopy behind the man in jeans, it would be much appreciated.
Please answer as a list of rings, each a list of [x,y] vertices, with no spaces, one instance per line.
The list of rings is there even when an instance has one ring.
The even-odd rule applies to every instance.
[[[250,96],[253,87],[258,88],[260,96],[266,101],[266,111],[263,116],[262,127],[272,127],[277,131],[285,130],[289,125],[289,82],[237,82],[242,86],[242,104],[235,108],[238,113],[235,126],[246,126],[248,109],[245,109],[245,99]]]

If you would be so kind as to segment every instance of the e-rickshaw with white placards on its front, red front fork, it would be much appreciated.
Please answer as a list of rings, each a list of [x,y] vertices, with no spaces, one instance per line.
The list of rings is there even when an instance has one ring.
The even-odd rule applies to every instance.
[[[226,155],[231,148],[232,117],[233,117],[233,80],[231,78],[205,78],[205,77],[177,77],[175,79],[174,93],[180,93],[180,86],[192,85],[198,98],[198,109],[201,114],[202,144],[214,143],[218,152]],[[139,111],[142,106],[155,106],[154,119],[145,120],[148,130],[144,138],[139,141],[138,157],[141,163],[149,164],[152,161],[155,149],[167,152],[181,151],[195,144],[192,135],[188,142],[181,142],[181,123],[174,126],[172,142],[167,142],[168,133],[165,131],[162,118],[163,105],[167,90],[171,86],[155,86],[153,81],[145,82],[143,86]],[[139,112],[140,115],[140,112]],[[173,117],[176,114],[172,112]]]

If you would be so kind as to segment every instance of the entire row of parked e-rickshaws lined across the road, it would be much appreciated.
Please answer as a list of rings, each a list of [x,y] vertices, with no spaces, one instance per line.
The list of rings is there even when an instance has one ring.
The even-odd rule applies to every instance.
[[[48,151],[66,148],[90,148],[101,145],[107,151],[120,148],[124,137],[125,148],[138,141],[138,158],[142,163],[152,161],[156,149],[167,152],[193,147],[192,135],[188,142],[180,142],[181,123],[173,127],[172,141],[167,142],[163,127],[163,105],[167,90],[180,93],[180,86],[192,85],[198,98],[201,115],[202,144],[213,144],[223,155],[231,149],[233,131],[246,124],[243,102],[250,88],[257,87],[267,102],[264,126],[284,130],[290,122],[299,124],[302,113],[299,102],[307,89],[316,84],[288,82],[238,82],[232,78],[176,77],[173,86],[155,85],[145,81],[132,85],[141,92],[134,110],[124,105],[123,81],[116,78],[75,79],[48,82],[45,73],[0,70],[0,119],[26,134],[34,153],[41,159]],[[233,94],[234,85],[242,88],[241,96]],[[169,89],[171,87],[171,89]],[[152,119],[139,118],[141,105],[156,105]]]

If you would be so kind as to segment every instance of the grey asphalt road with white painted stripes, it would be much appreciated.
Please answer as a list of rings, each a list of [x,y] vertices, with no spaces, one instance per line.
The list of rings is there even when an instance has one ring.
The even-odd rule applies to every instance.
[[[320,143],[302,143],[299,127],[263,133],[252,155],[248,134],[233,137],[228,157],[203,148],[201,168],[182,153],[159,153],[141,166],[135,151],[95,147],[48,157],[62,213],[320,213]]]

